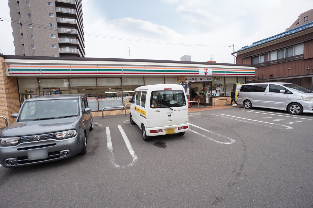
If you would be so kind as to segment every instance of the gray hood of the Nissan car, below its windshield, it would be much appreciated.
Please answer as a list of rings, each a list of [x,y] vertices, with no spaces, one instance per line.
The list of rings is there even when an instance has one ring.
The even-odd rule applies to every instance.
[[[39,121],[14,122],[1,132],[1,137],[47,134],[72,129],[78,117]]]

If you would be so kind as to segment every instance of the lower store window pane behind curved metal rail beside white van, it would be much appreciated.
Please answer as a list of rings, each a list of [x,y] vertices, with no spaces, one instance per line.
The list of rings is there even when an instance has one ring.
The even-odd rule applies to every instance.
[[[98,89],[99,110],[123,106],[122,89]]]

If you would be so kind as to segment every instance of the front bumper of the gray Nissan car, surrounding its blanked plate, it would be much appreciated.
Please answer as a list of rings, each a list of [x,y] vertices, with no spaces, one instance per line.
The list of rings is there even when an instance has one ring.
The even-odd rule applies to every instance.
[[[0,164],[3,167],[7,168],[20,167],[72,157],[80,153],[82,150],[82,139],[80,137],[81,135],[77,134],[72,138],[64,140],[40,140],[35,142],[20,143],[16,146],[1,146]],[[39,160],[28,160],[27,155],[29,151],[45,149],[48,151],[48,158]],[[64,151],[67,151],[68,154],[65,155],[66,152],[64,153]],[[9,164],[9,160],[12,160],[12,164]]]

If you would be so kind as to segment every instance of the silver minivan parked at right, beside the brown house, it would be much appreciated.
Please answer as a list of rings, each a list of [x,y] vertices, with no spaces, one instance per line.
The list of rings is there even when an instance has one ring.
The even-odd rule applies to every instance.
[[[237,103],[252,107],[288,110],[290,114],[313,113],[313,92],[285,82],[243,84]]]

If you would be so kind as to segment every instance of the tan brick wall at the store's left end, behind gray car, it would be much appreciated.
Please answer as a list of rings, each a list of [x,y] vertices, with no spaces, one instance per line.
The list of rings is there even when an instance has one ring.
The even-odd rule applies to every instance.
[[[18,113],[19,109],[17,78],[7,77],[4,58],[0,56],[0,115],[6,117],[10,125],[15,121],[11,114]],[[2,127],[5,127],[5,121],[1,118],[0,128]]]

